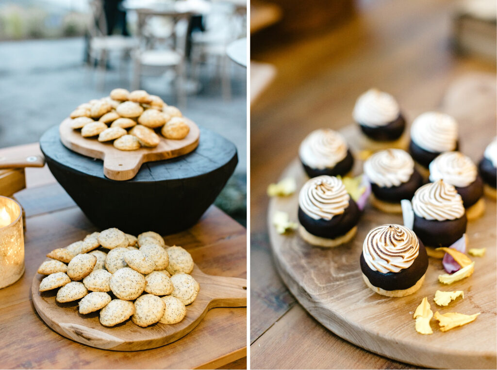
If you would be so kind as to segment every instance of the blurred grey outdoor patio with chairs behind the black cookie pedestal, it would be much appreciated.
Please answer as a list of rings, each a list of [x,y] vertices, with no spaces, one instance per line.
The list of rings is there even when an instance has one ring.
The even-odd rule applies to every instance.
[[[237,146],[215,204],[246,225],[246,53],[232,46],[246,29],[246,0],[0,0],[0,148],[113,88],[145,89]]]

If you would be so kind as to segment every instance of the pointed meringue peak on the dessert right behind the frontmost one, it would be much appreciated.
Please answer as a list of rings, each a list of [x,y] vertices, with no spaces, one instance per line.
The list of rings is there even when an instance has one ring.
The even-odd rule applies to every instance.
[[[443,180],[430,182],[416,190],[414,214],[425,220],[456,220],[464,216],[461,196],[454,186]]]

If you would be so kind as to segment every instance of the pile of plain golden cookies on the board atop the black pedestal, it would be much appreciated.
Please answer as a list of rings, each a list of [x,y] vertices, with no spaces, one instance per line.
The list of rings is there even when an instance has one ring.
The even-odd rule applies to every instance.
[[[109,96],[79,105],[70,115],[70,126],[84,138],[112,142],[119,150],[155,148],[160,132],[166,139],[181,140],[190,132],[178,108],[145,90],[116,88]]]

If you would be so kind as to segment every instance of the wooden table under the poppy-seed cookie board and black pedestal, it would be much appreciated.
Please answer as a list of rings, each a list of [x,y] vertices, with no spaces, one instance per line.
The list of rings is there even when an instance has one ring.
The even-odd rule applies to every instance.
[[[32,144],[2,151],[36,152],[37,146]],[[26,169],[26,183],[27,188],[16,194],[26,211],[26,272],[15,284],[0,290],[2,368],[246,368],[246,308],[212,309],[182,339],[139,352],[99,350],[52,331],[32,306],[31,280],[48,251],[80,240],[96,229],[55,182],[47,167]],[[166,243],[185,247],[207,274],[245,278],[246,234],[244,227],[212,206],[195,226],[167,236]]]

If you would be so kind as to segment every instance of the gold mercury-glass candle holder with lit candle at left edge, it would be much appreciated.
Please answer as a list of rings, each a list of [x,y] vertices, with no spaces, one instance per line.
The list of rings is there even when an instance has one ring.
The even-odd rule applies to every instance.
[[[0,289],[24,274],[24,234],[21,206],[0,196]]]

